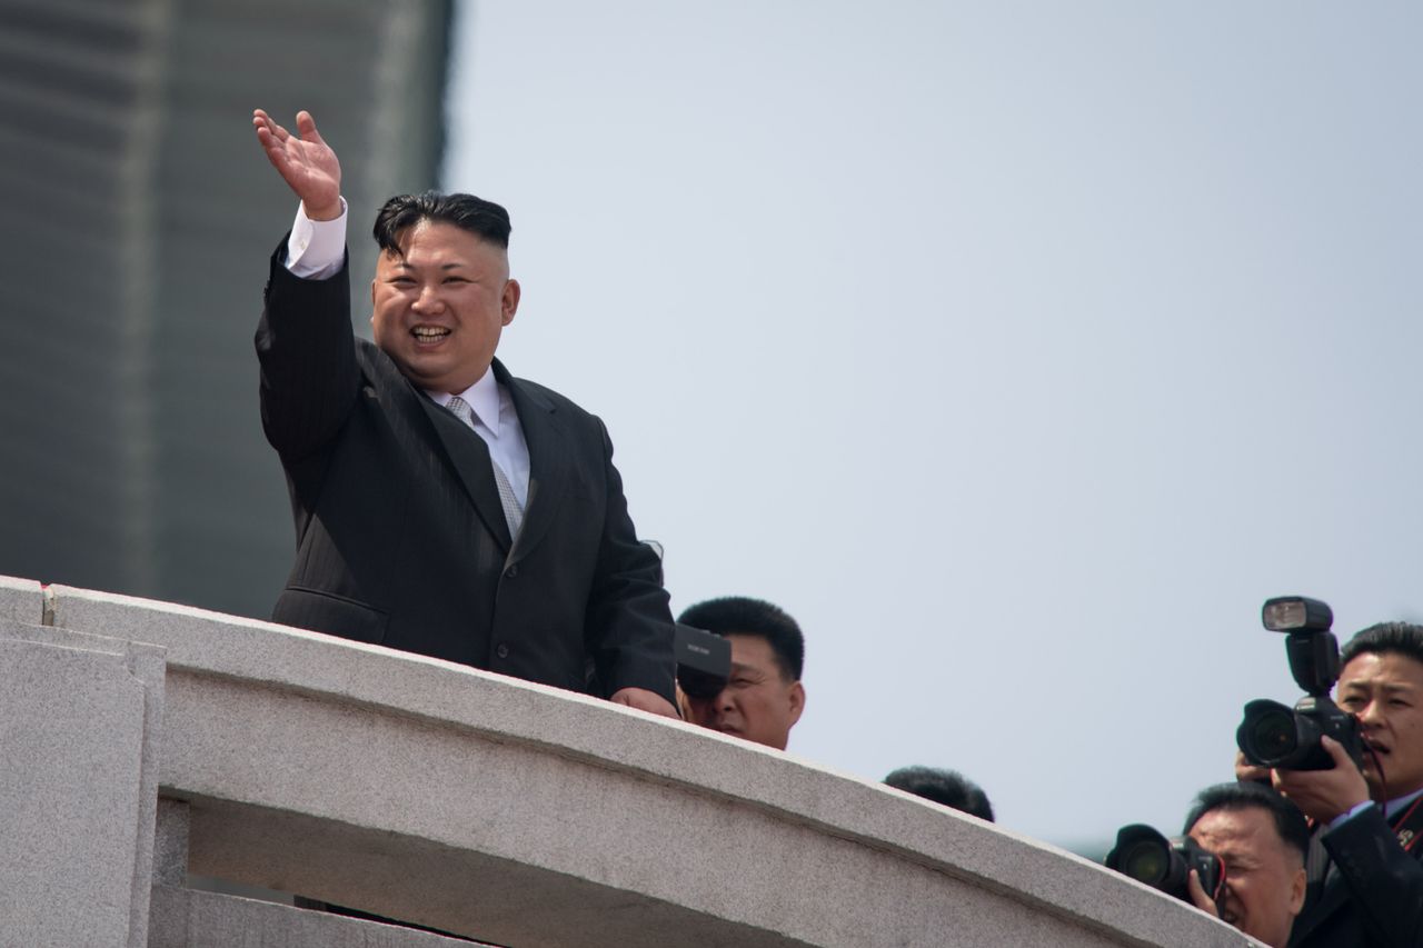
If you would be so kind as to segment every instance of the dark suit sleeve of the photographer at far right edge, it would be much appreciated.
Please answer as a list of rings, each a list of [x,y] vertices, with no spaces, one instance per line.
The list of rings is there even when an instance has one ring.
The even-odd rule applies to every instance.
[[[1380,948],[1423,947],[1423,865],[1399,846],[1379,807],[1323,837],[1349,885],[1356,918]]]

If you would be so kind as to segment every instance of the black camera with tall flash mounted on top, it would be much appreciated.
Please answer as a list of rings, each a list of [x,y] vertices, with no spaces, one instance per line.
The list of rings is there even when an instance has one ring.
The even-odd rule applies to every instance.
[[[1339,680],[1339,642],[1329,631],[1333,612],[1319,599],[1282,596],[1265,602],[1262,622],[1272,632],[1289,633],[1289,672],[1308,695],[1294,709],[1266,699],[1248,702],[1235,730],[1241,753],[1261,767],[1331,770],[1333,757],[1319,743],[1328,736],[1343,744],[1362,770],[1359,722],[1329,699],[1329,689]]]

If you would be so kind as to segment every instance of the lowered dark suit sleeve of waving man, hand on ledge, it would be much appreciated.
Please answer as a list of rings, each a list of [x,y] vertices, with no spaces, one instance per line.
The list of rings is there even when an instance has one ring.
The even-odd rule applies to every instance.
[[[605,696],[623,688],[642,688],[676,705],[672,612],[662,585],[662,564],[652,547],[638,539],[622,477],[613,467],[608,428],[598,421],[603,441],[608,505],[603,534],[588,598],[585,646]]]

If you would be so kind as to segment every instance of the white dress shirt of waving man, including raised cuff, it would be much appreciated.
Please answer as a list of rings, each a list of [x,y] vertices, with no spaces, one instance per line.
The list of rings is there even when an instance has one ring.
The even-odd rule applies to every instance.
[[[286,269],[295,276],[309,280],[324,280],[336,276],[346,262],[346,198],[342,198],[342,216],[334,221],[312,221],[306,208],[297,205],[296,221],[292,222],[292,236],[286,242]],[[454,394],[448,391],[425,391],[437,404],[447,406]],[[529,504],[529,447],[524,440],[524,427],[514,410],[514,399],[501,386],[494,373],[485,370],[480,380],[457,393],[474,411],[474,431],[490,446],[490,458],[509,478],[519,507]]]

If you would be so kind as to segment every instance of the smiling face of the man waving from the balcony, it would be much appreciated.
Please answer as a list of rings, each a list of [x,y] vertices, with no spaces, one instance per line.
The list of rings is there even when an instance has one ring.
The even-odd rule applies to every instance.
[[[453,223],[421,221],[401,253],[381,252],[371,280],[376,344],[421,389],[460,393],[494,360],[519,285],[508,255]]]

